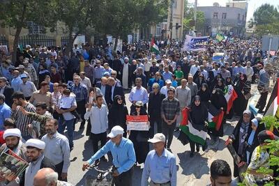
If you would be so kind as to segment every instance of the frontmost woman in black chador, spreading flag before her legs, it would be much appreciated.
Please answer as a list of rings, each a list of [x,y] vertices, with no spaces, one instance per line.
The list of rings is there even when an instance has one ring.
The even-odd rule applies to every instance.
[[[201,102],[199,95],[196,95],[189,113],[189,121],[192,124],[194,130],[198,130],[199,132],[203,131],[206,133],[206,121],[208,116],[209,112],[207,111],[206,106]],[[190,135],[193,136],[193,134]],[[195,141],[195,138],[191,139],[191,137],[189,137],[189,142],[191,149],[190,157],[194,156],[195,145],[197,152],[199,152],[199,145],[202,145],[202,150],[206,149],[206,142],[204,144],[199,144],[197,141]]]

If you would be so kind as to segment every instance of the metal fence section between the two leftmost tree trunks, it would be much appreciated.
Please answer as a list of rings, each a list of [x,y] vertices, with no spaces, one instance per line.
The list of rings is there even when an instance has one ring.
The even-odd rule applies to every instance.
[[[18,45],[41,45],[41,46],[55,46],[56,39],[52,36],[45,35],[27,35],[21,36]]]

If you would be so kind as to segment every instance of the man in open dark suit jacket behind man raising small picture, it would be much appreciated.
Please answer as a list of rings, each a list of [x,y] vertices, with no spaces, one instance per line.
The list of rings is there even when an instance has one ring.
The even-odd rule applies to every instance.
[[[105,91],[105,101],[107,102],[107,106],[109,108],[112,106],[115,95],[121,95],[125,104],[123,88],[121,84],[117,82],[113,77],[107,78],[107,88],[105,88]]]

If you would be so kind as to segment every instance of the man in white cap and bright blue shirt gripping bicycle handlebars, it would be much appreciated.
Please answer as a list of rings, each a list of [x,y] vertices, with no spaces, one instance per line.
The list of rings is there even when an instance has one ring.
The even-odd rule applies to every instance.
[[[110,141],[95,153],[87,162],[84,162],[82,171],[88,169],[93,162],[99,160],[109,151],[112,153],[114,164],[113,183],[116,186],[132,185],[133,166],[135,164],[135,149],[130,139],[123,137],[124,130],[119,125],[112,127]]]

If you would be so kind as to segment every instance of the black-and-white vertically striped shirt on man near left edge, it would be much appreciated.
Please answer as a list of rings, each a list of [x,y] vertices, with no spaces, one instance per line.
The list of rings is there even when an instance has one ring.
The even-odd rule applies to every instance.
[[[27,103],[24,110],[28,112],[36,112],[36,108],[31,103]],[[27,125],[31,124],[33,119],[27,115],[22,114],[20,111],[20,106],[17,106],[17,109],[13,111],[12,118],[15,120],[15,125],[22,132],[22,137],[26,137],[28,135]]]

